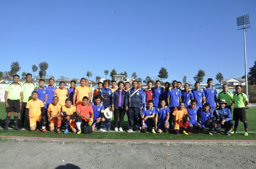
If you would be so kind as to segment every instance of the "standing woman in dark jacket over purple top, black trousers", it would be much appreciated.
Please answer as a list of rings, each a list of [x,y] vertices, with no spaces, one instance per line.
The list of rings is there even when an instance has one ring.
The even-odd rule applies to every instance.
[[[115,131],[123,131],[122,125],[124,121],[124,96],[125,96],[125,90],[124,90],[124,82],[119,81],[118,89],[114,91],[112,95],[112,105],[111,105],[111,111],[114,111],[114,123],[115,123]],[[119,123],[118,123],[118,117],[119,117]]]

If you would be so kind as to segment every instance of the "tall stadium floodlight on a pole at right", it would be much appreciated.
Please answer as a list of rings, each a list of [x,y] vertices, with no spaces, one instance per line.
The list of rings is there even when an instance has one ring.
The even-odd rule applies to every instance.
[[[245,26],[251,24],[250,20],[250,14],[242,15],[240,17],[236,17],[236,25],[237,26],[243,26],[242,28],[238,28],[237,30],[244,30],[244,65],[245,65],[245,94],[249,100],[248,97],[248,81],[247,81],[247,61],[246,61],[246,43],[245,43],[245,31],[247,28],[250,28],[251,26]]]

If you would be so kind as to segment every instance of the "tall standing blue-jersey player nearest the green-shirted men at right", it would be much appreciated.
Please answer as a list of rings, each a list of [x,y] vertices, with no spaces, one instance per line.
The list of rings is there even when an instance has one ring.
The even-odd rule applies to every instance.
[[[217,90],[212,87],[212,78],[207,79],[207,87],[203,89],[207,103],[210,104],[210,109],[215,110],[215,107],[219,106],[217,102]],[[216,103],[216,104],[215,104]]]

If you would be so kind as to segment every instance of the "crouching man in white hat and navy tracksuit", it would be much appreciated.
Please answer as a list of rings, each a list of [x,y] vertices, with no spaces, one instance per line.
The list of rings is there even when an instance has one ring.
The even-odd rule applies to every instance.
[[[221,129],[225,129],[225,134],[230,136],[229,131],[233,126],[233,121],[231,120],[231,111],[225,106],[228,103],[225,100],[220,99],[219,108],[215,109],[213,116],[215,118],[214,130],[220,134]]]

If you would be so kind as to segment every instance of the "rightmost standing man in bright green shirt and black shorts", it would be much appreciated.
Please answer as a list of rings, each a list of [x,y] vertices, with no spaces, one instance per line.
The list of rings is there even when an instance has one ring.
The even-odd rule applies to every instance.
[[[244,123],[244,136],[248,136],[248,123],[245,116],[245,106],[249,104],[247,96],[242,93],[242,86],[236,85],[236,94],[233,96],[234,110],[233,110],[233,120],[235,121],[234,131],[231,134],[236,134],[236,129],[238,126],[239,119]]]

